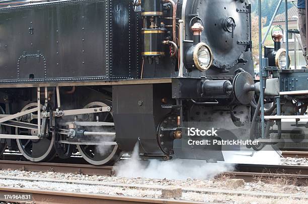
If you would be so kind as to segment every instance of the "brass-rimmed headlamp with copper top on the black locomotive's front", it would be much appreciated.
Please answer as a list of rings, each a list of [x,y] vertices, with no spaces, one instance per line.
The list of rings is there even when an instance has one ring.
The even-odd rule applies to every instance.
[[[206,71],[213,63],[213,54],[210,47],[201,42],[203,30],[204,28],[200,23],[195,23],[191,27],[194,36],[193,45],[186,51],[185,55],[185,65],[189,70],[196,67],[200,71]]]

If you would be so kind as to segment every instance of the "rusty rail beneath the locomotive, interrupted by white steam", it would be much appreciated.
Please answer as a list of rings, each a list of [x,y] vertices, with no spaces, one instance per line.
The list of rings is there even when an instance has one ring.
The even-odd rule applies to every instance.
[[[225,172],[234,178],[242,178],[246,182],[256,178],[279,178],[287,177],[296,179],[298,183],[308,183],[308,166],[293,165],[259,165],[259,164],[234,164],[235,171]],[[34,172],[59,172],[87,175],[110,176],[113,174],[112,166],[94,166],[89,164],[64,164],[64,163],[34,163],[28,161],[0,160],[1,169],[12,169]]]

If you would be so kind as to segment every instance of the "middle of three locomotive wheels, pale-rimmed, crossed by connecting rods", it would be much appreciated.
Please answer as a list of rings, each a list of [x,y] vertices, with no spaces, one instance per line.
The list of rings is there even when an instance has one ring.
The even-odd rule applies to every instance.
[[[21,111],[26,111],[37,107],[37,103],[31,103],[25,106]],[[21,117],[21,122],[37,124],[37,112]],[[16,128],[16,135],[37,135],[36,131],[24,128]],[[17,139],[19,151],[23,156],[34,162],[47,161],[54,157],[55,150],[53,147],[54,135],[49,133],[49,136],[38,140]]]

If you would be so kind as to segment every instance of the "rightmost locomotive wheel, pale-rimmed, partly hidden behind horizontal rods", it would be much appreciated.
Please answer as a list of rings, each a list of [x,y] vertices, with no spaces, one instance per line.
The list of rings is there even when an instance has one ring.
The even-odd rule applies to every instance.
[[[104,100],[104,102],[93,102],[84,107],[84,109],[88,108],[96,108],[96,107],[106,107],[111,106],[112,102],[109,100]],[[83,116],[83,121],[89,121],[89,122],[96,122],[97,117],[99,119],[99,122],[110,122],[113,123],[113,115],[112,112],[103,112],[103,113],[94,113],[94,114],[87,114]],[[91,127],[85,127],[85,129],[91,131]],[[89,129],[90,128],[90,129]],[[114,126],[104,127],[104,130],[110,132],[114,132]],[[95,137],[91,138],[91,140],[99,140],[101,138]],[[102,138],[104,141],[106,138]],[[108,140],[108,138],[107,138]],[[115,138],[110,138],[108,140],[109,142],[114,142]],[[77,148],[80,152],[80,154],[83,156],[83,158],[93,164],[93,165],[111,165],[121,157],[121,151],[118,147],[118,145],[77,145]]]

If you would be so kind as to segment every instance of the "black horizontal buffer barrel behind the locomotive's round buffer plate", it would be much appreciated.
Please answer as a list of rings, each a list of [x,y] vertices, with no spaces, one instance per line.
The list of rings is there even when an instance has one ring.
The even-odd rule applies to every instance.
[[[222,96],[232,93],[232,83],[229,80],[205,80],[200,83],[202,96]]]

